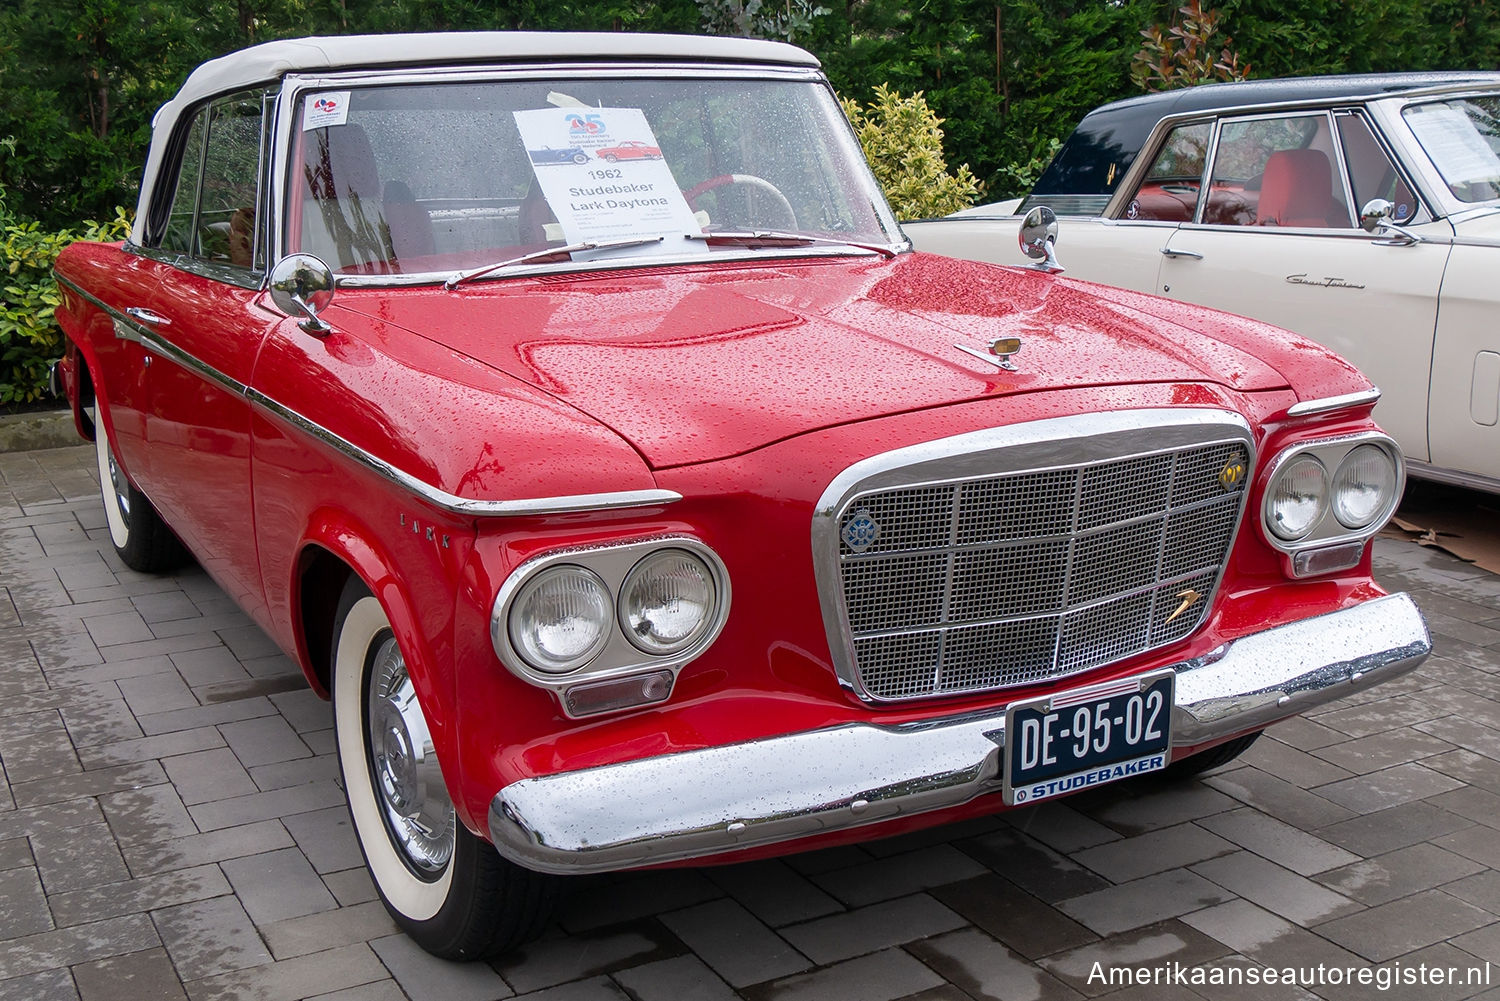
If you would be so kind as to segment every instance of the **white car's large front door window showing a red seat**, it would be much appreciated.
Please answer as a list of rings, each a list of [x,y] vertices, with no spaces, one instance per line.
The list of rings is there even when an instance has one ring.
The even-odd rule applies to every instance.
[[[1336,165],[1326,114],[1226,122],[1203,222],[1348,230],[1354,221]]]

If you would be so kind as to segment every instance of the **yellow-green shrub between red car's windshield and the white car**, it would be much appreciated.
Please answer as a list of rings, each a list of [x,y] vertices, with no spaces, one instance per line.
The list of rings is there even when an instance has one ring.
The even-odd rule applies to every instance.
[[[874,101],[861,108],[843,101],[844,114],[864,147],[885,197],[902,219],[928,219],[974,204],[980,182],[962,165],[948,173],[942,153],[942,119],[933,114],[921,92],[903,98],[885,84]]]

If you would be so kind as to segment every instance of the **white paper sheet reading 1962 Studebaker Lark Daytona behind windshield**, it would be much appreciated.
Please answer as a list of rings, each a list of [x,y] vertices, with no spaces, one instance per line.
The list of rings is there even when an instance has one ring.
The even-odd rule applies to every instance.
[[[516,111],[531,170],[568,243],[663,237],[674,252],[698,233],[656,134],[639,108]],[[678,246],[674,246],[678,245]]]

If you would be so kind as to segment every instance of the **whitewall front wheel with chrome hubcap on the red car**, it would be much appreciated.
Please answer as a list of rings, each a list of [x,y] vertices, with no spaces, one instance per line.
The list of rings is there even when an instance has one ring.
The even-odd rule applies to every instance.
[[[333,630],[339,770],[386,909],[442,959],[483,959],[536,938],[555,879],[500,857],[453,812],[406,659],[357,578]]]

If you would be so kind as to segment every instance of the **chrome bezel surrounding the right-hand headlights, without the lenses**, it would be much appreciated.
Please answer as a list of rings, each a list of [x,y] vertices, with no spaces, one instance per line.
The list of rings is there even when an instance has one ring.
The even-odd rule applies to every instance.
[[[1341,471],[1344,468],[1346,459],[1364,446],[1371,446],[1378,449],[1390,461],[1394,477],[1390,494],[1382,500],[1382,503],[1374,509],[1374,515],[1362,525],[1348,527],[1338,519],[1336,515],[1336,498],[1335,489],[1341,479]],[[1304,458],[1311,456],[1322,464],[1326,482],[1326,497],[1322,504],[1322,510],[1314,522],[1306,531],[1296,536],[1294,539],[1287,539],[1272,527],[1272,507],[1276,495],[1276,483],[1281,476],[1284,476],[1293,464]],[[1266,543],[1274,549],[1290,557],[1290,572],[1293,576],[1316,576],[1317,573],[1330,572],[1329,569],[1308,570],[1306,567],[1314,566],[1318,561],[1310,561],[1306,555],[1312,551],[1326,551],[1338,546],[1346,546],[1354,555],[1362,552],[1362,546],[1368,542],[1382,525],[1395,513],[1396,504],[1401,503],[1401,491],[1406,488],[1406,462],[1401,456],[1401,449],[1396,443],[1386,434],[1378,431],[1364,431],[1358,434],[1338,435],[1334,438],[1314,438],[1310,441],[1302,441],[1282,449],[1270,462],[1266,471],[1266,486],[1260,503],[1260,534],[1264,537]],[[1353,560],[1358,563],[1358,558]],[[1348,569],[1347,566],[1338,566],[1338,561],[1322,561],[1323,566],[1332,569]]]

